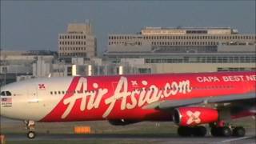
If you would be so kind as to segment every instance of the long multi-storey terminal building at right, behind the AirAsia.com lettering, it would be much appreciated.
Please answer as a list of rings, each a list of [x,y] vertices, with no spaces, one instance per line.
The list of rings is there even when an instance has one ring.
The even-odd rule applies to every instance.
[[[255,46],[255,34],[231,28],[146,27],[110,34],[104,55],[116,63],[142,58],[151,73],[256,70]]]

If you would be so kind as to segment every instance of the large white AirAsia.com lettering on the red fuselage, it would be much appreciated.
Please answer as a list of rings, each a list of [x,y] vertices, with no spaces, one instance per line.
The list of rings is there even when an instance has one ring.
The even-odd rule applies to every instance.
[[[132,86],[138,86],[139,84],[137,81],[130,82]],[[166,82],[164,89],[161,89],[156,85],[149,85],[146,80],[142,80],[140,84],[144,87],[132,91],[128,90],[128,83],[129,82],[126,77],[121,77],[114,89],[114,94],[104,99],[107,109],[102,115],[102,118],[107,118],[114,107],[116,107],[118,100],[121,100],[120,110],[129,110],[134,109],[136,106],[141,107],[144,104],[157,102],[161,98],[167,98],[178,93],[186,94],[191,91],[189,80],[182,82]],[[93,83],[92,87],[94,88],[94,91],[87,91],[86,94],[84,94],[83,91],[87,90],[87,87],[87,79],[80,78],[75,90],[81,91],[82,93],[79,94],[78,92],[78,94],[73,94],[69,98],[64,98],[63,104],[67,107],[62,114],[62,118],[66,118],[70,114],[71,110],[74,109],[76,102],[80,102],[79,110],[81,112],[85,110],[98,109],[99,104],[102,102],[102,97],[110,91],[107,88],[100,87],[98,83]],[[130,102],[127,102],[128,98],[130,99]]]

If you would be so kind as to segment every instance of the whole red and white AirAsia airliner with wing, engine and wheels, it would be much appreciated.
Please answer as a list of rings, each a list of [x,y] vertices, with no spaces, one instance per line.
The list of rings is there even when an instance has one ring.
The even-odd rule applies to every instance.
[[[1,88],[1,115],[34,122],[173,121],[181,136],[242,137],[234,118],[254,116],[256,72],[34,78]]]

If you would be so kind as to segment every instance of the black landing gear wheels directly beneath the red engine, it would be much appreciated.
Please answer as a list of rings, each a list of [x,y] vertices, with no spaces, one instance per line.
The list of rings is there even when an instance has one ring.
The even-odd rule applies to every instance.
[[[178,135],[182,137],[190,137],[190,136],[196,136],[196,137],[204,137],[207,133],[205,126],[179,126],[178,127]]]

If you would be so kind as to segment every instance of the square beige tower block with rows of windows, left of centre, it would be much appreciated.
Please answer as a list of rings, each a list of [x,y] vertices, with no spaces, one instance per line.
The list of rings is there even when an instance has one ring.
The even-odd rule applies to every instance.
[[[70,23],[65,34],[58,34],[59,58],[94,58],[97,53],[96,38],[90,23]]]

